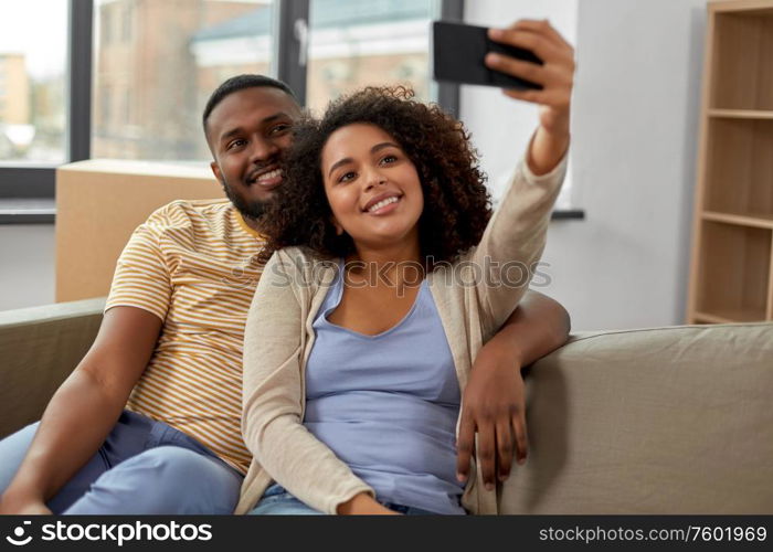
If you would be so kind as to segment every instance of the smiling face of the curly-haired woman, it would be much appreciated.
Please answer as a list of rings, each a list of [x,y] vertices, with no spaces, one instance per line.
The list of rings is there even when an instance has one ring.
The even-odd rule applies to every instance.
[[[333,224],[358,246],[419,242],[424,209],[419,174],[383,129],[364,123],[339,128],[322,148],[321,170]]]

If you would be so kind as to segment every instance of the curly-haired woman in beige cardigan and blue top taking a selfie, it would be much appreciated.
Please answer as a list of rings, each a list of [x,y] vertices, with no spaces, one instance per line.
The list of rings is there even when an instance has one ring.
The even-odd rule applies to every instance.
[[[456,477],[455,429],[565,170],[569,98],[544,79],[532,99],[541,125],[494,216],[464,128],[403,89],[296,127],[245,331],[237,512],[496,512],[479,474]]]

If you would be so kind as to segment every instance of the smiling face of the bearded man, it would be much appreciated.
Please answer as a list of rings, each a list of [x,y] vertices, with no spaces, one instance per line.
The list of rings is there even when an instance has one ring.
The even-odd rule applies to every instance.
[[[290,145],[299,114],[290,96],[268,86],[230,94],[210,114],[212,172],[242,214],[258,219],[282,183],[279,158]]]

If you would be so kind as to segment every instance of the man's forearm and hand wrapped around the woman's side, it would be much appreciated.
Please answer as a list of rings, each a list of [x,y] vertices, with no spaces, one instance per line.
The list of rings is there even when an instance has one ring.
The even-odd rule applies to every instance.
[[[569,338],[569,312],[558,301],[529,290],[499,332],[475,359],[462,397],[457,474],[466,480],[473,455],[484,484],[510,475],[513,452],[523,464],[528,452],[526,395],[520,369],[561,347]],[[475,434],[478,450],[475,450]]]

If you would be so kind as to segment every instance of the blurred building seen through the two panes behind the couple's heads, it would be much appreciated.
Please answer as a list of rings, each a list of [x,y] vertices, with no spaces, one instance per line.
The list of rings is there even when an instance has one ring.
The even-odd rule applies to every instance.
[[[431,99],[435,3],[313,0],[307,105],[319,110],[370,84],[405,84]],[[118,42],[97,29],[93,157],[208,159],[200,116],[211,92],[240,73],[275,73],[271,0],[97,0],[95,8],[103,24],[116,19],[107,14],[131,14],[133,32]],[[121,106],[131,117],[112,115]]]

